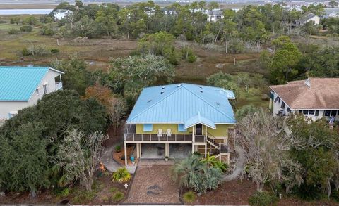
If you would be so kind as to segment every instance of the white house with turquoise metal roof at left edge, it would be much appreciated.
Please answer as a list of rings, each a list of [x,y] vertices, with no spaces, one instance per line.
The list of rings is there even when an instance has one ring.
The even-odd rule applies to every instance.
[[[61,74],[50,67],[0,67],[0,121],[62,89]]]

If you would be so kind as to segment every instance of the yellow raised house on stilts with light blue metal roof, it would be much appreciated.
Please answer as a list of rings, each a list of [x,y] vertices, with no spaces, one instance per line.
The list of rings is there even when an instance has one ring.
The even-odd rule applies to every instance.
[[[230,161],[228,131],[236,123],[233,91],[196,84],[143,89],[126,121],[124,145],[136,145],[137,158],[184,158],[211,152]],[[146,155],[153,151],[153,156]],[[127,165],[125,149],[125,162]]]

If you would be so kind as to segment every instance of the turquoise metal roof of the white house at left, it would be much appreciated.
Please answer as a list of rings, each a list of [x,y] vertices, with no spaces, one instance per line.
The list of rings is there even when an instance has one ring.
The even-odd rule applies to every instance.
[[[29,101],[50,69],[49,67],[0,67],[0,101]]]

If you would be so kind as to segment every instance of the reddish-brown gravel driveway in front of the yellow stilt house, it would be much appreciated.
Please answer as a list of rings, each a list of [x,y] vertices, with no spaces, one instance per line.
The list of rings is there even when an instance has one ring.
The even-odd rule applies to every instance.
[[[179,187],[169,176],[171,165],[139,165],[124,203],[180,204]]]

